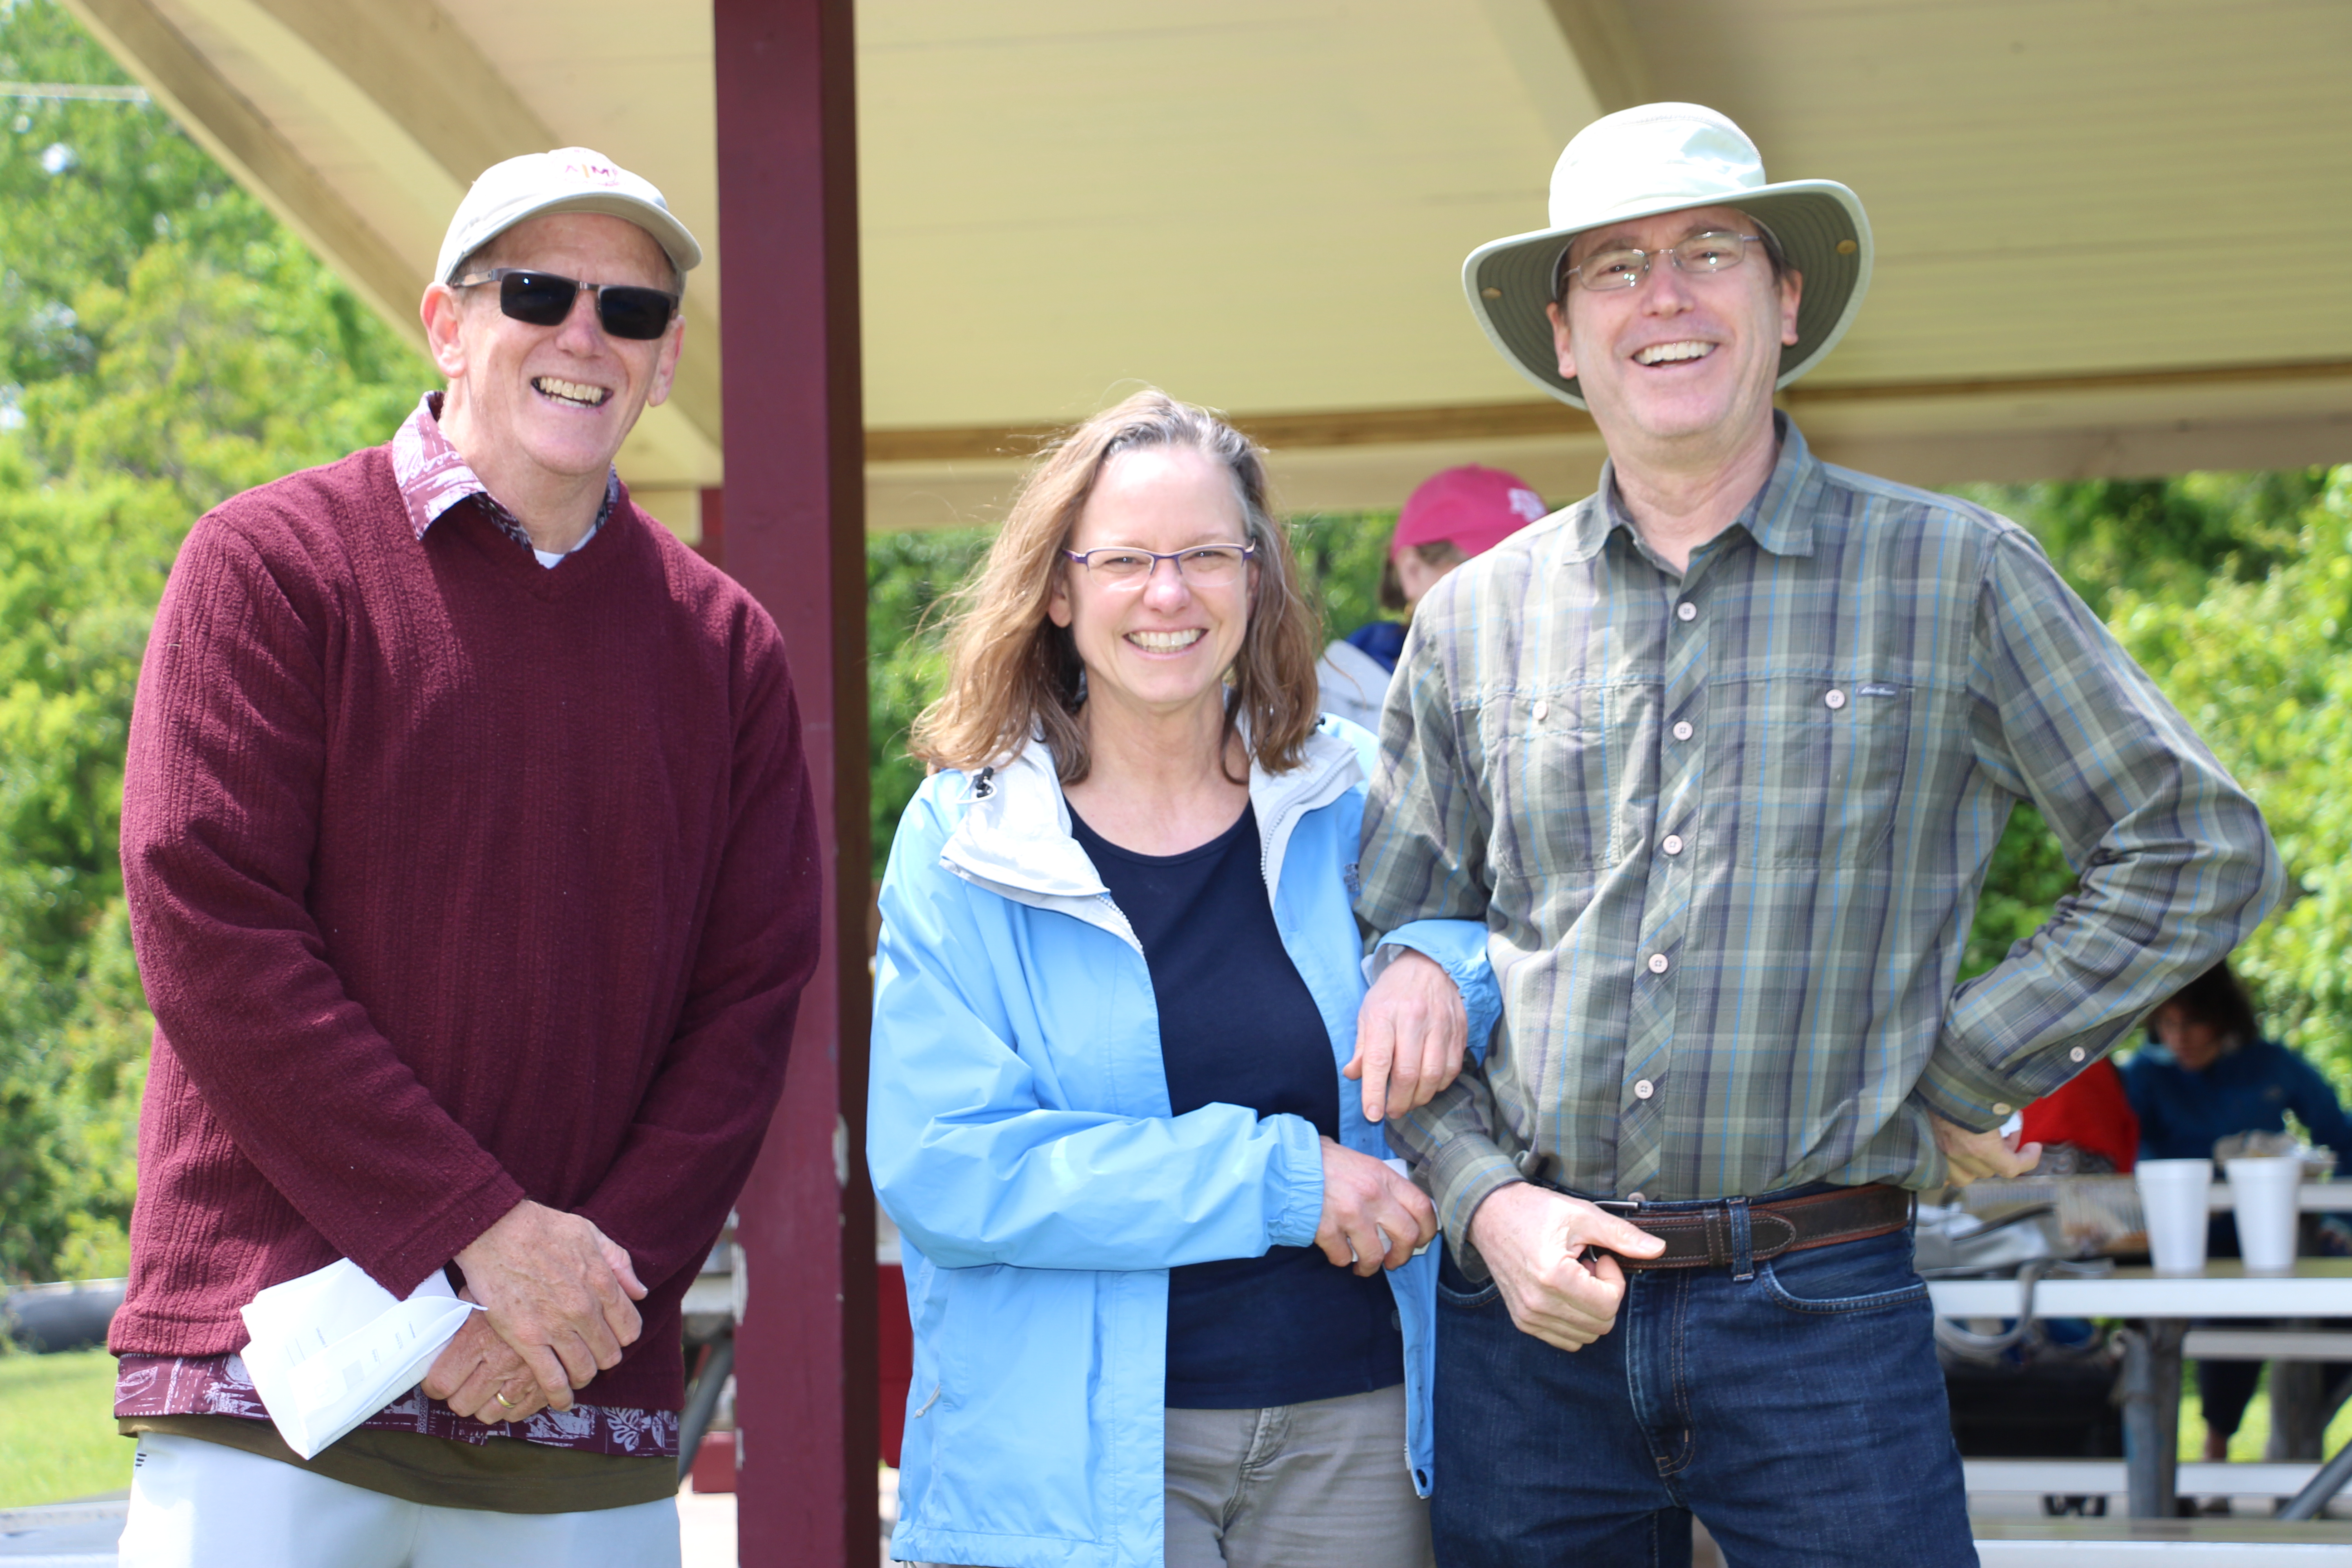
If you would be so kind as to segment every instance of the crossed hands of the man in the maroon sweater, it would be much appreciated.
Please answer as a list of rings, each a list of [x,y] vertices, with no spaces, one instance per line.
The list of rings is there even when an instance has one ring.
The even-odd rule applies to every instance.
[[[616,1366],[642,1331],[644,1284],[628,1251],[576,1213],[515,1204],[456,1265],[461,1295],[482,1312],[433,1361],[423,1389],[459,1415],[569,1410],[572,1389]]]

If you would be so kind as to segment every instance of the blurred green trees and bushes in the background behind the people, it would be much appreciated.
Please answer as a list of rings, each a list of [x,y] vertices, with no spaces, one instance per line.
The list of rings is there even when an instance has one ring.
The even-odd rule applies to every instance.
[[[0,80],[125,78],[54,0],[0,0]],[[426,386],[430,369],[158,108],[0,99],[0,1281],[125,1267],[153,1020],[115,830],[172,552],[223,496],[386,440]],[[1964,494],[2034,529],[2263,802],[2296,891],[2241,961],[2265,1016],[2343,1081],[2352,470]],[[1392,524],[1294,520],[1329,635],[1383,614]],[[875,875],[922,780],[906,731],[941,677],[931,609],[988,538],[868,543]],[[1966,973],[2072,884],[2020,809]]]

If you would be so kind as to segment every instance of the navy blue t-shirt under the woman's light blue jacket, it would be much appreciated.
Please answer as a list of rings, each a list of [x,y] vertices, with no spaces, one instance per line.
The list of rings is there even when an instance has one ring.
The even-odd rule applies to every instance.
[[[1080,849],[1136,929],[1160,1001],[1169,1105],[1247,1105],[1338,1135],[1338,1065],[1315,994],[1282,950],[1258,858],[1258,816],[1181,856],[1138,856],[1070,813]],[[1169,1269],[1174,1410],[1256,1410],[1404,1382],[1385,1274],[1315,1246]]]

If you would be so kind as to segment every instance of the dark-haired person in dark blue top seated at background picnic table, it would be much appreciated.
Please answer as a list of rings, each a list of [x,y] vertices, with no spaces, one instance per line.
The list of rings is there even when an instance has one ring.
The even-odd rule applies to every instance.
[[[2263,1039],[2246,987],[2223,959],[2147,1016],[2150,1044],[2124,1065],[2124,1093],[2140,1119],[2140,1159],[2211,1159],[2230,1133],[2284,1133],[2296,1112],[2314,1143],[2336,1150],[2338,1173],[2352,1173],[2352,1121],[2319,1070],[2274,1039]],[[2237,1255],[2237,1222],[2213,1215],[2206,1246]],[[2230,1458],[2230,1436],[2246,1415],[2260,1361],[2199,1361],[2197,1396],[2206,1420],[2206,1458]],[[2331,1366],[2328,1382],[2352,1368]]]

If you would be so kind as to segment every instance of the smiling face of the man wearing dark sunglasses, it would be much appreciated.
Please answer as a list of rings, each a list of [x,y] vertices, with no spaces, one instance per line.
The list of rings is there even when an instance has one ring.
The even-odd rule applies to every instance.
[[[494,266],[670,292],[670,259],[628,219],[560,212],[499,235],[468,275]],[[437,289],[440,292],[440,289]],[[433,357],[449,376],[442,425],[463,430],[459,449],[475,465],[522,463],[543,480],[597,480],[649,402],[670,395],[684,320],[659,339],[616,339],[581,289],[557,327],[534,327],[499,310],[496,284],[428,296]],[[437,320],[435,320],[437,317]],[[494,456],[492,456],[494,454]]]

